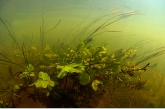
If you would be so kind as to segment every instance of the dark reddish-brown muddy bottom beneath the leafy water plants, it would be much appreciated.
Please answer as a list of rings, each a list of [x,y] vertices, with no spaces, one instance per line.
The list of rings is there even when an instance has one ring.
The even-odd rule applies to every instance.
[[[84,90],[83,90],[84,89]],[[20,90],[19,96],[13,97],[16,108],[137,108],[153,107],[147,102],[151,98],[145,92],[128,90],[124,87],[108,85],[104,90],[93,91],[83,87],[81,92],[60,93],[60,97],[50,95],[46,97],[46,91],[35,87]],[[81,93],[81,94],[80,94]],[[59,95],[59,94],[56,94]]]

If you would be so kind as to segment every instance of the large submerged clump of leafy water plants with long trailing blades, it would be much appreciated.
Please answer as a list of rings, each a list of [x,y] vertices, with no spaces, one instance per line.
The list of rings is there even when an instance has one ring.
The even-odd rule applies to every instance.
[[[61,22],[61,19],[54,28],[45,31],[42,16],[42,25],[40,27],[41,50],[34,45],[25,48],[24,43],[22,49],[19,49],[20,52],[22,52],[25,64],[24,70],[19,73],[19,79],[23,79],[24,83],[15,84],[13,87],[14,92],[20,94],[23,88],[34,89],[35,92],[30,94],[37,98],[37,94],[39,95],[40,91],[42,92],[44,90],[46,91],[47,98],[53,95],[58,97],[59,100],[65,95],[68,101],[74,101],[72,102],[73,104],[77,102],[81,104],[91,99],[92,96],[90,96],[89,92],[95,94],[104,91],[105,87],[110,83],[114,84],[114,90],[116,86],[120,85],[124,85],[130,90],[142,90],[147,81],[142,79],[141,74],[148,70],[150,63],[147,62],[147,64],[143,66],[139,66],[139,64],[164,54],[164,49],[145,57],[140,57],[140,55],[137,55],[137,50],[146,44],[146,42],[143,41],[134,44],[126,50],[121,48],[112,52],[108,52],[107,44],[105,43],[101,45],[92,43],[93,38],[102,33],[121,32],[104,31],[103,29],[117,21],[137,14],[140,13],[133,11],[108,18],[108,20],[88,34],[87,37],[79,40],[78,36],[83,36],[91,26],[108,15],[97,18],[73,38],[72,41],[78,40],[76,46],[60,43],[59,40],[58,43],[53,46],[46,44],[44,41],[45,35],[55,29]],[[5,25],[11,38],[17,44],[14,33],[9,31],[6,23],[2,19],[0,20]],[[0,59],[0,61],[19,65],[2,53],[0,53],[0,55],[4,58]],[[140,60],[136,60],[139,59],[138,57],[140,57]],[[31,63],[30,60],[34,58],[35,62],[33,61],[34,63],[29,64]],[[38,75],[37,78],[36,75]],[[16,76],[14,75],[13,78],[16,78]],[[37,92],[37,89],[41,90]],[[8,89],[7,91],[12,95],[15,94]],[[39,96],[41,95],[42,94]]]

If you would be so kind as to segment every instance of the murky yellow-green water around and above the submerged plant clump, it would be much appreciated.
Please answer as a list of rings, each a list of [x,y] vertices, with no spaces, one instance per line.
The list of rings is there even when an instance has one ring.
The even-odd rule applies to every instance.
[[[143,89],[135,91],[127,90],[126,88],[127,94],[132,94],[135,91],[136,94],[139,94],[138,97],[137,95],[123,97],[124,94],[122,95],[122,92],[120,92],[120,88],[123,87],[121,85],[121,87],[116,88],[116,99],[113,98],[108,101],[109,95],[104,94],[105,99],[100,98],[100,101],[98,100],[98,104],[100,103],[98,106],[92,104],[92,100],[96,100],[92,98],[89,106],[165,107],[165,93],[163,87],[165,85],[164,6],[165,1],[163,0],[1,0],[0,73],[3,77],[1,78],[1,83],[3,84],[1,87],[2,92],[6,90],[6,87],[9,87],[8,84],[10,84],[10,81],[21,84],[18,77],[11,79],[8,72],[11,72],[10,70],[12,68],[12,73],[17,74],[18,72],[23,72],[25,69],[13,63],[25,67],[27,63],[24,61],[26,61],[25,59],[27,58],[29,64],[31,63],[37,67],[36,72],[43,70],[41,65],[48,66],[50,63],[63,66],[67,65],[66,63],[78,63],[79,61],[75,61],[76,59],[74,60],[71,58],[70,62],[67,60],[67,58],[73,55],[71,51],[62,53],[66,57],[62,60],[59,59],[60,62],[59,60],[55,60],[54,58],[57,59],[58,57],[52,54],[58,54],[60,47],[60,53],[65,52],[67,47],[67,50],[71,50],[69,46],[74,48],[79,42],[84,41],[91,35],[91,43],[96,47],[102,46],[102,43],[108,44],[106,46],[106,51],[108,51],[108,54],[111,54],[111,56],[113,53],[115,54],[115,51],[118,49],[129,50],[130,47],[132,47],[130,49],[134,47],[134,49],[137,50],[137,56],[139,56],[139,58],[129,58],[129,62],[135,65],[135,63],[144,58],[146,61],[139,63],[138,66],[136,66],[137,69],[143,68],[148,63],[150,63],[150,65],[149,67],[147,66],[147,70],[143,69],[144,71],[140,72],[144,80],[147,81]],[[7,25],[7,28],[5,25]],[[106,26],[104,27],[103,25]],[[9,29],[9,31],[7,29]],[[50,63],[46,63],[45,60],[41,62],[41,55],[43,52],[45,53],[45,51],[41,50],[42,35],[44,36],[43,49],[47,47],[49,58],[54,56],[53,59],[52,57],[50,60],[46,59],[47,62],[50,61]],[[14,36],[16,42],[13,41],[11,36]],[[16,43],[18,43],[18,45]],[[61,45],[58,45],[59,43]],[[63,45],[67,45],[65,49],[63,49]],[[91,46],[87,47],[87,49]],[[31,49],[31,51],[29,51],[29,49]],[[81,49],[81,47],[77,49]],[[77,49],[73,49],[73,51],[76,52]],[[24,55],[22,51],[24,51],[26,55]],[[59,55],[62,57],[63,55],[60,53]],[[83,53],[85,56],[88,54],[87,51],[80,52],[80,54]],[[94,56],[94,54],[92,56]],[[84,60],[83,57],[81,61],[85,62]],[[117,58],[114,58],[114,60],[117,60]],[[89,61],[89,59],[86,61]],[[122,60],[121,63],[126,65],[129,62],[125,61],[124,63]],[[96,63],[97,62],[95,62],[95,64]],[[86,70],[89,69],[90,68]],[[104,68],[101,67],[101,69],[101,71],[103,71]],[[59,72],[58,69],[56,70]],[[49,73],[56,72],[56,70],[52,71],[52,69],[47,69],[44,71]],[[108,72],[111,72],[111,70]],[[34,80],[36,80],[36,78],[37,76]],[[120,79],[122,80],[122,78],[119,78],[119,80]],[[5,83],[6,81],[9,83]],[[122,81],[124,81],[124,79]],[[108,84],[111,85],[111,83]],[[107,87],[106,85],[106,88]],[[110,89],[106,88],[105,90],[107,90],[107,93],[112,92]],[[7,92],[9,92],[8,89]],[[9,93],[13,96],[15,92]],[[99,97],[97,98],[99,99]],[[7,100],[8,97],[4,97],[2,93],[1,99],[4,101]],[[101,104],[105,102],[104,100],[107,102]],[[129,101],[128,105],[124,103],[124,100]],[[146,103],[138,104],[138,100],[142,100],[142,102]],[[109,103],[110,105],[107,105],[108,102],[113,102],[114,104]],[[85,104],[80,103],[77,105],[83,107]]]

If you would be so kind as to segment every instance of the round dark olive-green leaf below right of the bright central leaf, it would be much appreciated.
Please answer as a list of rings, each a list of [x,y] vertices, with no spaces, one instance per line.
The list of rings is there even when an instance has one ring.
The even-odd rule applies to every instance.
[[[82,73],[79,77],[79,83],[81,85],[87,85],[90,82],[90,76],[88,73]]]

